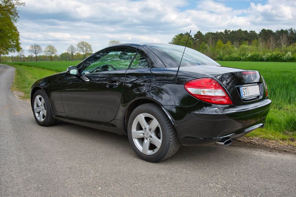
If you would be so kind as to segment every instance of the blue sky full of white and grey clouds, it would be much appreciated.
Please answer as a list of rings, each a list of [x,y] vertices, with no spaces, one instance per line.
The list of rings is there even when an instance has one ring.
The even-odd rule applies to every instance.
[[[296,28],[295,0],[23,0],[18,29],[25,55],[31,44],[58,54],[83,40],[93,51],[110,40],[169,42],[178,33],[224,29]]]

